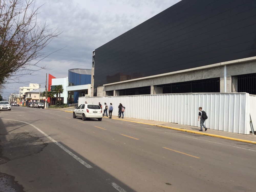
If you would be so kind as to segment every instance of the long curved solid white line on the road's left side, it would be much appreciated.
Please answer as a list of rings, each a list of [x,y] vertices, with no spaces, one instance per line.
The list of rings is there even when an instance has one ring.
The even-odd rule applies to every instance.
[[[9,120],[9,121],[17,121],[17,120],[12,120],[12,119],[4,119],[4,120]],[[40,129],[38,129],[35,125],[32,125],[30,123],[24,122],[24,121],[18,121],[18,122],[22,122],[22,123],[26,123],[28,125],[31,125],[32,127],[34,127],[37,131],[39,131],[40,133],[42,133],[44,136],[46,136],[49,140],[51,140],[52,142],[54,142],[56,145],[58,145],[60,148],[62,148],[64,151],[66,151],[69,155],[71,155],[74,159],[76,159],[79,163],[81,163],[82,165],[86,166],[87,168],[92,168],[91,165],[89,165],[88,163],[84,162],[82,159],[80,159],[78,156],[76,156],[75,154],[73,154],[71,151],[69,151],[67,148],[65,148],[63,145],[59,144],[57,141],[55,141],[53,138],[51,138],[49,135],[47,135],[46,133],[44,133],[43,131],[41,131]]]

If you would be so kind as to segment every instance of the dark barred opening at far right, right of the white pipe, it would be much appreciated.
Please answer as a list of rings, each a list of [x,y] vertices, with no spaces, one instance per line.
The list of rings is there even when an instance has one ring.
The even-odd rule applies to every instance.
[[[256,73],[238,75],[237,92],[256,95]]]

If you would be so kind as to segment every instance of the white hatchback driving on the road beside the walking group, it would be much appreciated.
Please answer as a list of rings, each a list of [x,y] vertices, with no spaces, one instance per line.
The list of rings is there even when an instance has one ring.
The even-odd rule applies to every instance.
[[[83,121],[87,119],[102,120],[102,109],[97,104],[82,104],[73,111],[73,118],[81,117]]]

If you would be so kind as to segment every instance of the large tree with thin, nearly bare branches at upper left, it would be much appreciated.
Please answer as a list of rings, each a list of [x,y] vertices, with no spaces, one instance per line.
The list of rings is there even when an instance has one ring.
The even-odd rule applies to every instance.
[[[48,54],[42,50],[62,32],[39,23],[34,6],[35,0],[0,1],[0,84],[47,69],[38,65]]]

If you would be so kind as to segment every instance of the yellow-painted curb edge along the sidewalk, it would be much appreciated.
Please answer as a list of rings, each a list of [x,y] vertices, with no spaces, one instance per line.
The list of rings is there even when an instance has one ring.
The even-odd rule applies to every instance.
[[[72,113],[71,111],[65,111],[65,112]],[[103,117],[103,118],[107,118],[107,117]],[[133,122],[133,123],[140,123],[140,124],[144,124],[144,125],[153,125],[153,126],[162,127],[162,128],[166,128],[166,129],[172,129],[172,130],[176,130],[176,131],[183,131],[183,132],[194,133],[194,134],[198,134],[198,135],[206,135],[206,136],[210,136],[210,137],[217,137],[217,138],[228,139],[228,140],[232,140],[232,141],[240,141],[240,142],[244,142],[244,143],[256,144],[256,141],[237,139],[237,138],[233,138],[233,137],[225,137],[225,136],[221,136],[221,135],[215,135],[215,134],[209,134],[209,133],[201,133],[201,132],[197,132],[197,131],[190,131],[190,130],[185,130],[185,129],[179,129],[179,128],[174,128],[174,127],[163,126],[163,125],[150,124],[150,123],[142,123],[142,122],[136,122],[136,121],[129,121],[129,120],[124,120],[124,119],[117,119],[117,118],[111,118],[111,119],[120,120],[120,121],[128,121],[128,122]]]

